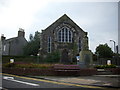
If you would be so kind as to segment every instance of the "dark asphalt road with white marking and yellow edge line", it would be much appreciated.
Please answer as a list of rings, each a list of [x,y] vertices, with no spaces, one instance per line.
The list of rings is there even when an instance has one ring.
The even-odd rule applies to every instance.
[[[15,88],[82,88],[82,89],[103,89],[97,86],[77,85],[71,83],[50,81],[44,79],[29,78],[10,74],[3,74],[2,86],[4,89],[10,90]],[[11,89],[11,90],[12,90]]]

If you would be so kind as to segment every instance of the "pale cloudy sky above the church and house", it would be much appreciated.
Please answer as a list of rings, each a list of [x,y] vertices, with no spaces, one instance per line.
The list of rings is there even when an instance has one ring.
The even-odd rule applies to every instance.
[[[118,44],[118,0],[0,0],[0,34],[16,37],[23,28],[29,40],[64,14],[88,32],[93,53],[105,43],[114,50],[110,40]]]

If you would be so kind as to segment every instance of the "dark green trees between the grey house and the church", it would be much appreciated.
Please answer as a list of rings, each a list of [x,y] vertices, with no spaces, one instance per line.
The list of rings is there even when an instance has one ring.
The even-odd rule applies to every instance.
[[[36,31],[34,37],[30,34],[29,39],[30,41],[24,47],[24,55],[36,56],[40,48],[40,32]]]

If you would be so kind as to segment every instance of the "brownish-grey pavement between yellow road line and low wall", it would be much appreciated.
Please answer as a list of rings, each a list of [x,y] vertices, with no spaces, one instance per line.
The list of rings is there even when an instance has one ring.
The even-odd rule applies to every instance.
[[[120,75],[93,75],[93,76],[30,76],[57,82],[120,88]]]

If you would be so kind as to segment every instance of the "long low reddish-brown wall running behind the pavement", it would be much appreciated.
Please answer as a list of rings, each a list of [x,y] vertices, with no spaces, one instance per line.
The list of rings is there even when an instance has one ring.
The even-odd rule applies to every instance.
[[[80,70],[62,70],[54,69],[37,69],[37,68],[3,68],[3,73],[15,75],[36,75],[36,76],[80,76],[80,75],[95,75],[96,69],[80,69]]]

